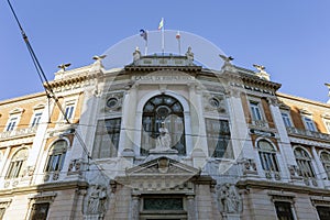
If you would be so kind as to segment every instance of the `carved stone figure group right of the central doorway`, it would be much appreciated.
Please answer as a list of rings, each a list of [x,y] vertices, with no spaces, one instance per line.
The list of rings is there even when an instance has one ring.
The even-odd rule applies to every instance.
[[[232,184],[217,186],[217,202],[220,212],[240,213],[243,209],[238,188]]]

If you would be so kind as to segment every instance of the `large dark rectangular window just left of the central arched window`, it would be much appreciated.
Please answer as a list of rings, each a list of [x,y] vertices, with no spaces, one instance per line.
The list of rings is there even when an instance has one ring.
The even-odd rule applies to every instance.
[[[98,121],[92,148],[94,158],[107,158],[117,156],[120,128],[120,118]]]

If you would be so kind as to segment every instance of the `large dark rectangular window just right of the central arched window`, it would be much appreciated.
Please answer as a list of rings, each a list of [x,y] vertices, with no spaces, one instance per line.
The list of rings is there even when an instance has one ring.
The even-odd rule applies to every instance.
[[[206,119],[209,155],[212,157],[232,157],[230,129],[227,120]]]

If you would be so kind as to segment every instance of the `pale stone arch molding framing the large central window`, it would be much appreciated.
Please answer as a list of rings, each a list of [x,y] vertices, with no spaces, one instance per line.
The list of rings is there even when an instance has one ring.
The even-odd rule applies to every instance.
[[[135,153],[136,154],[140,154],[140,146],[141,146],[141,143],[142,143],[142,139],[141,139],[141,134],[140,134],[140,130],[141,130],[141,125],[142,125],[142,116],[143,116],[143,108],[144,106],[146,105],[146,102],[152,99],[153,97],[156,97],[156,96],[170,96],[175,99],[177,99],[177,101],[182,105],[183,107],[183,113],[184,113],[184,127],[185,127],[185,140],[186,140],[186,153],[189,154],[191,151],[193,151],[193,140],[191,140],[191,136],[190,135],[187,135],[187,134],[190,134],[191,133],[191,122],[190,122],[190,108],[189,108],[189,102],[187,101],[187,99],[179,95],[179,94],[176,94],[174,91],[169,91],[169,90],[166,90],[164,92],[161,92],[161,91],[151,91],[151,92],[147,92],[145,94],[138,102],[138,106],[136,106],[136,120],[135,120],[135,129],[136,129],[136,132],[134,134],[134,143],[135,143]],[[123,122],[125,123],[125,122]]]

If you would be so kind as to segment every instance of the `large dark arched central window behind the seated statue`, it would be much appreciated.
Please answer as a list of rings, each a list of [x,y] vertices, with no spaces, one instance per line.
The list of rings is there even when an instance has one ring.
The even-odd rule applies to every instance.
[[[141,155],[156,146],[162,122],[170,135],[170,146],[179,155],[186,154],[184,108],[174,97],[160,95],[151,98],[143,107]]]

